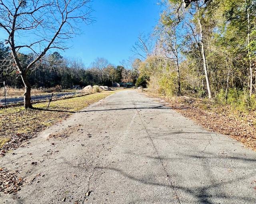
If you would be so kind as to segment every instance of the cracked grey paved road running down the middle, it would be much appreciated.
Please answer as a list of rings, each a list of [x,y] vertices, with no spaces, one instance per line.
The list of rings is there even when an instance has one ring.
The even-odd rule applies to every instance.
[[[28,182],[0,203],[256,203],[256,152],[136,90],[29,142],[0,158]]]

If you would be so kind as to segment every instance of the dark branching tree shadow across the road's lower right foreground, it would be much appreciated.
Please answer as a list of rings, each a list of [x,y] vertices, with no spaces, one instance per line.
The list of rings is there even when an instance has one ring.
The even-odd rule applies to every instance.
[[[193,157],[193,156],[192,156]],[[160,159],[160,158],[155,158],[155,159]],[[202,158],[201,158],[202,159]],[[228,160],[244,160],[244,158],[239,158],[239,157],[227,157],[226,159]],[[248,159],[247,161],[252,161],[255,162],[255,159]],[[204,163],[204,165],[207,165]],[[202,183],[201,186],[198,187],[189,187],[190,185],[179,185],[178,180],[180,178],[177,178],[175,175],[170,175],[170,182],[169,184],[167,182],[154,182],[152,179],[148,180],[148,178],[155,178],[157,175],[147,175],[145,179],[141,179],[141,177],[136,177],[136,175],[131,175],[130,172],[126,172],[124,170],[118,169],[116,167],[97,167],[99,170],[106,169],[110,171],[115,171],[116,173],[122,175],[123,177],[126,177],[130,180],[134,180],[136,182],[145,184],[145,185],[152,185],[152,186],[162,186],[162,187],[167,187],[171,188],[171,191],[176,192],[177,194],[177,199],[179,203],[182,202],[182,197],[184,194],[186,194],[186,197],[192,197],[194,198],[193,203],[201,203],[201,204],[214,204],[218,200],[218,203],[254,203],[255,200],[252,198],[253,196],[250,196],[250,198],[246,195],[241,196],[236,194],[236,192],[230,192],[226,193],[229,190],[226,190],[228,186],[237,186],[239,181],[246,180],[248,177],[254,177],[254,173],[251,173],[249,175],[244,175],[244,176],[236,176],[230,179],[226,179],[225,181],[218,180],[217,178],[212,177],[210,179],[210,184],[209,183]],[[212,175],[212,172],[208,169],[205,168],[206,171],[209,171],[209,175]],[[181,200],[179,200],[178,196],[181,196]]]

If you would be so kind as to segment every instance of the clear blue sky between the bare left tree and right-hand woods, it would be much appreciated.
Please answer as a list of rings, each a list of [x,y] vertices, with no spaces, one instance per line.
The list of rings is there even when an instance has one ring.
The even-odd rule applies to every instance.
[[[83,35],[70,41],[65,57],[79,57],[86,67],[97,57],[114,65],[132,57],[132,45],[140,33],[154,29],[159,18],[158,0],[94,0],[92,17],[96,22],[81,27]]]

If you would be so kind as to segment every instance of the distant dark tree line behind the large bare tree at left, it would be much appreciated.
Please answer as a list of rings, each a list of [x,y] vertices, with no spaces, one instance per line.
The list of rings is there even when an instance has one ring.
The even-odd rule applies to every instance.
[[[23,88],[24,84],[13,65],[8,47],[0,42],[0,81],[14,88]],[[34,56],[19,53],[23,66],[27,66]],[[81,59],[63,57],[58,52],[44,56],[40,64],[30,69],[28,80],[32,88],[51,88],[60,86],[72,88],[74,85],[84,87],[87,85],[112,86],[114,82],[134,82],[134,74],[124,66],[112,65],[107,59],[98,57],[90,67],[85,67]],[[132,77],[132,78],[131,78]],[[3,85],[3,84],[2,84]]]

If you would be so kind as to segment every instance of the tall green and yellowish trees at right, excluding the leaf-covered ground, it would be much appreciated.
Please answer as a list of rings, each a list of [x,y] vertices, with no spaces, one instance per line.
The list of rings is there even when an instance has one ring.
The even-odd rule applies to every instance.
[[[140,49],[140,78],[168,96],[255,105],[256,0],[184,3],[162,1],[154,51]]]

